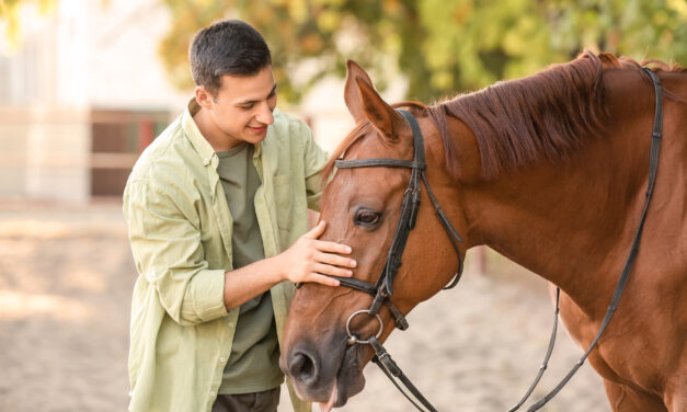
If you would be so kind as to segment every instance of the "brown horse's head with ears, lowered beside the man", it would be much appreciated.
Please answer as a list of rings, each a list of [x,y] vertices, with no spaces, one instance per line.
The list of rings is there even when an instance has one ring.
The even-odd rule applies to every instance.
[[[412,161],[415,150],[409,122],[379,96],[359,66],[348,61],[347,68],[344,100],[356,127],[334,158]],[[455,198],[459,188],[445,170],[439,131],[424,113],[424,106],[400,105],[413,113],[424,136],[425,173],[435,196],[439,202],[444,197]],[[403,168],[340,168],[328,184],[321,198],[321,219],[328,228],[321,239],[353,248],[353,258],[358,262],[355,279],[369,285],[378,282],[410,179],[411,171]],[[434,216],[426,190],[421,191],[420,204],[423,206],[416,211],[414,230],[390,285],[390,302],[403,314],[439,291],[459,270],[459,256]],[[457,231],[463,232],[466,225],[459,207],[448,203],[443,206]],[[462,255],[467,247],[461,244],[460,249]],[[363,390],[363,368],[374,355],[364,341],[379,334],[383,342],[394,328],[394,317],[387,306],[381,307],[379,318],[353,316],[370,308],[371,302],[373,296],[344,285],[331,288],[306,284],[296,290],[280,365],[293,378],[299,397],[341,407]]]

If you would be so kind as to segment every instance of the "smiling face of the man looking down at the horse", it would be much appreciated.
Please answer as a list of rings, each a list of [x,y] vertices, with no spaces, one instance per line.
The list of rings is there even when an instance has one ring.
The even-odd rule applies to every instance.
[[[272,112],[277,104],[272,66],[253,76],[221,77],[221,88],[207,100],[207,111],[221,130],[228,147],[241,141],[257,144],[274,123]]]

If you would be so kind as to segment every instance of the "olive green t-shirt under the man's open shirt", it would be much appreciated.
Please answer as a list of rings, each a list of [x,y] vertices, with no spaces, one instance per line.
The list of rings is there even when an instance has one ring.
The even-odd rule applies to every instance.
[[[231,249],[233,268],[265,258],[253,199],[261,185],[253,165],[253,145],[245,142],[217,152],[217,173],[233,219]],[[270,291],[241,305],[231,354],[219,393],[249,393],[282,385],[279,348]]]

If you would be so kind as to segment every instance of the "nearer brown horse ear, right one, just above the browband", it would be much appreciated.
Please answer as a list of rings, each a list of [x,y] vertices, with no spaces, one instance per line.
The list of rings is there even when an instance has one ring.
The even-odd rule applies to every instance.
[[[405,118],[388,105],[370,83],[359,78],[356,78],[356,83],[365,117],[383,137],[397,141],[402,135],[412,135]]]

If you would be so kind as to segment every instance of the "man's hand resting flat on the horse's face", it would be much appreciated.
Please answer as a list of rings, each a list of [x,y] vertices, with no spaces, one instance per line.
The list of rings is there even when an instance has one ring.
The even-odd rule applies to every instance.
[[[339,281],[324,275],[350,277],[355,260],[344,256],[351,254],[351,247],[318,240],[327,224],[318,226],[301,236],[296,243],[275,256],[286,279],[294,283],[314,282],[327,286],[339,286]]]

